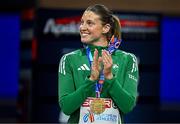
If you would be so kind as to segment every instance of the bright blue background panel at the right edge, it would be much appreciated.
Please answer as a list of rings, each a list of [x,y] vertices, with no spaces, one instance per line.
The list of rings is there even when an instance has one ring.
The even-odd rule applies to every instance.
[[[161,32],[161,103],[180,106],[180,18],[164,17]]]

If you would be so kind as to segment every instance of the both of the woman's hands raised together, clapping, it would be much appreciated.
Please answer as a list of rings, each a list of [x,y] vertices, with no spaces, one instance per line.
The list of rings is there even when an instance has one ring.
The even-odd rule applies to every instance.
[[[93,62],[91,65],[91,75],[90,80],[95,81],[99,79],[102,67],[103,67],[103,74],[105,79],[112,79],[112,66],[113,61],[111,55],[106,50],[102,50],[102,56],[98,57],[98,50],[95,49]]]

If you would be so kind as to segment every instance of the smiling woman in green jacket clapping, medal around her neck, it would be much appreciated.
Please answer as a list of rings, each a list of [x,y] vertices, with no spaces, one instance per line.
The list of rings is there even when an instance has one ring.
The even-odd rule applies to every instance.
[[[120,23],[104,5],[88,7],[79,29],[85,48],[61,58],[59,105],[68,123],[121,123],[136,104],[136,57],[111,51],[110,39],[118,45],[121,39]]]

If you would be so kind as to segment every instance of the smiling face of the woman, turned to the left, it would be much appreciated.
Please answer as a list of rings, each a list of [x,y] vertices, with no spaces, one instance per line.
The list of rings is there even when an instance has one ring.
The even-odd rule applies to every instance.
[[[100,16],[92,11],[85,11],[79,27],[81,42],[96,46],[107,46],[107,39],[104,35],[105,28],[102,25]]]

